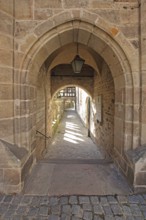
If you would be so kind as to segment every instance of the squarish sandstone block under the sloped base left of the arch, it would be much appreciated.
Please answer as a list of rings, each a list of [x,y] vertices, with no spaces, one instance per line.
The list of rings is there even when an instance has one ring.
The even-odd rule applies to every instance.
[[[4,169],[4,183],[6,185],[18,185],[20,183],[20,170]]]

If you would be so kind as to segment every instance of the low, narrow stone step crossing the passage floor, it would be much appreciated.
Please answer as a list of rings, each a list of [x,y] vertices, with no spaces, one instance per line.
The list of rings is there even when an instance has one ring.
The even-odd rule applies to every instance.
[[[111,159],[42,159],[38,163],[50,164],[109,164],[113,163]]]

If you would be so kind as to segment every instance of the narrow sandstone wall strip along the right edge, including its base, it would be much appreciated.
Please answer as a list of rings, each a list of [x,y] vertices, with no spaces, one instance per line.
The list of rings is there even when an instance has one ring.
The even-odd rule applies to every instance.
[[[140,84],[141,84],[141,146],[134,151],[135,188],[145,189],[146,185],[146,1],[140,1]]]

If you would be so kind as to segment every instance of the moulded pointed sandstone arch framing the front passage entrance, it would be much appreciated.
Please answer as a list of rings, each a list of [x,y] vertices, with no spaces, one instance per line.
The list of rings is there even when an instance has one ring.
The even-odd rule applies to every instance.
[[[24,105],[28,100],[30,103],[35,102],[38,73],[41,66],[49,56],[51,58],[49,65],[51,65],[53,56],[56,56],[55,52],[61,51],[64,45],[73,42],[83,44],[95,53],[100,54],[107,63],[112,73],[116,94],[115,160],[120,161],[118,165],[123,169],[125,175],[129,176],[129,172],[132,173],[130,179],[133,183],[134,167],[133,164],[129,163],[124,152],[139,145],[139,117],[137,113],[139,100],[135,103],[136,91],[138,90],[135,80],[135,77],[138,77],[138,65],[135,62],[137,51],[116,27],[109,25],[96,14],[85,10],[82,10],[82,13],[78,10],[74,10],[72,13],[68,11],[63,14],[60,13],[36,27],[34,33],[28,36],[28,41],[29,38],[32,39],[32,36],[34,36],[31,41],[33,43],[27,47],[24,44],[20,46],[20,50],[24,50],[24,56],[19,66],[21,74],[19,87],[23,87],[24,96],[27,96],[29,91],[27,100],[23,100],[21,97]],[[44,71],[44,77],[47,76],[47,71],[47,69]],[[32,135],[32,130],[35,129],[33,117],[35,117],[36,112],[35,107],[30,110],[30,107],[25,105],[23,113],[21,105],[22,102],[20,101],[14,106],[14,109],[16,107],[19,109],[19,119],[15,120],[14,123],[15,143],[28,150],[25,164],[28,164],[29,161],[31,166],[35,158],[35,148],[32,146],[34,146],[36,139],[35,132]],[[27,112],[27,116],[25,112]],[[23,142],[24,139],[25,143]],[[120,151],[117,150],[119,144],[121,145]],[[32,155],[33,157],[31,157]],[[22,178],[20,182],[23,180]]]

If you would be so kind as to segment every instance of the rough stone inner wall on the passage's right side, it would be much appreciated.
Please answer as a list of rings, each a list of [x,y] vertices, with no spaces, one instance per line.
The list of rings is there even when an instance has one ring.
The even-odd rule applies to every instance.
[[[97,99],[99,96],[102,97],[101,122],[97,121]],[[108,66],[103,63],[101,73],[96,74],[94,78],[94,99],[91,105],[91,132],[96,139],[97,145],[107,150],[110,154],[112,154],[114,148],[114,102],[113,78]]]

